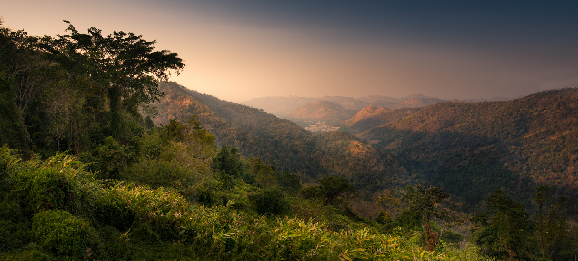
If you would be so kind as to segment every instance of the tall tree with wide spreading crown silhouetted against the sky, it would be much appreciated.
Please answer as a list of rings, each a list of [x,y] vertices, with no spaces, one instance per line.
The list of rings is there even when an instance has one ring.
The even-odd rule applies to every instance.
[[[163,94],[157,82],[168,80],[170,70],[179,74],[184,68],[176,53],[154,51],[155,40],[147,42],[142,35],[123,31],[104,37],[94,27],[80,33],[65,22],[69,35],[55,39],[45,36],[40,46],[51,60],[102,88],[109,99],[113,137],[120,137],[122,132],[121,110],[137,114],[140,103],[158,101]]]

